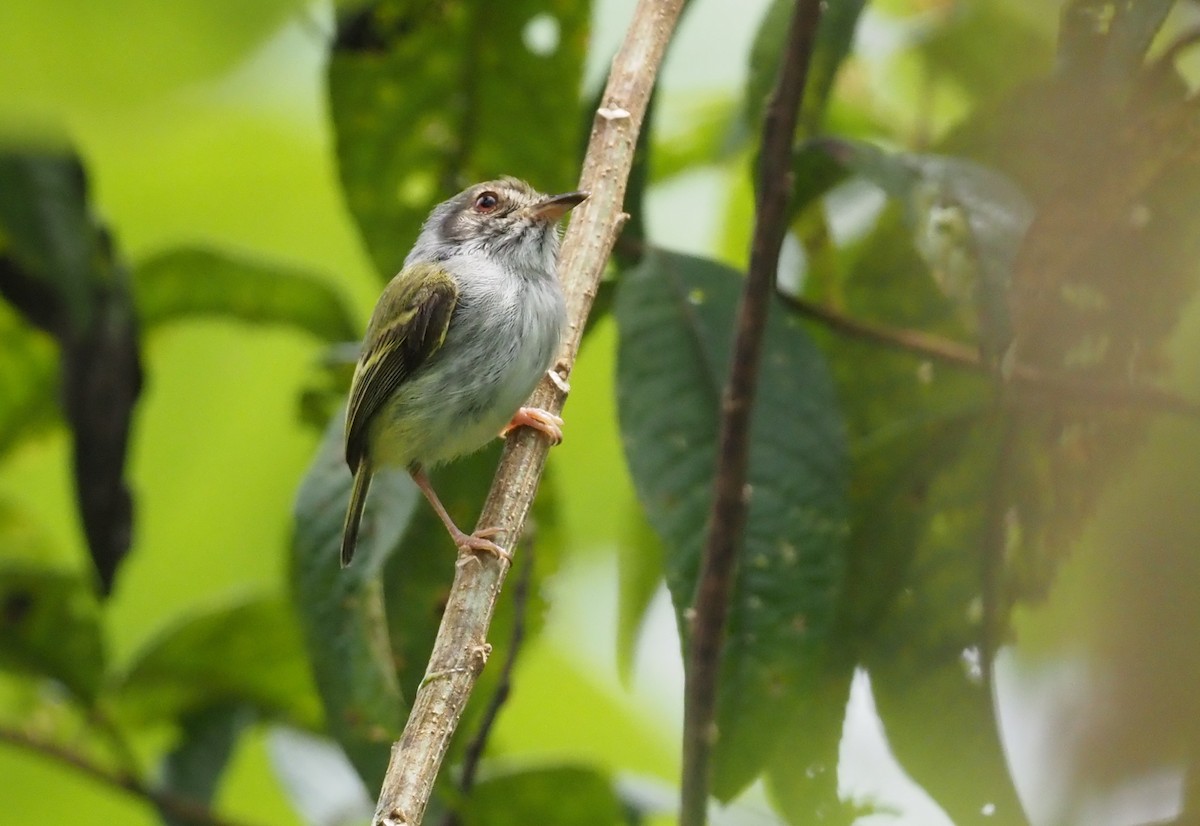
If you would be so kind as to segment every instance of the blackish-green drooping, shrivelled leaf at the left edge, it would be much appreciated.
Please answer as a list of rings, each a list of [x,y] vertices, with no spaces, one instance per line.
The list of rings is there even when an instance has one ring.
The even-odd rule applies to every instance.
[[[124,469],[142,365],[126,273],[73,155],[0,154],[0,295],[59,341],[79,511],[107,593],[133,529]]]

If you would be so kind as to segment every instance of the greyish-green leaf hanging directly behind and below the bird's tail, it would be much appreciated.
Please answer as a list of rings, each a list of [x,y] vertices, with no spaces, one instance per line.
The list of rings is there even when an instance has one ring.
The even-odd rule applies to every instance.
[[[402,471],[377,473],[358,552],[342,569],[342,523],[350,496],[343,420],[340,412],[329,423],[296,495],[292,598],[329,731],[367,786],[376,789],[408,711],[388,639],[380,573],[408,526],[419,492]]]

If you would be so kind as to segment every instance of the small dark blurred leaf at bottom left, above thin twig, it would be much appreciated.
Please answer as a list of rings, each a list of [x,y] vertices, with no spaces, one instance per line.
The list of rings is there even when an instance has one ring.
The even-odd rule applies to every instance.
[[[254,719],[251,708],[241,705],[214,706],[184,716],[182,740],[163,762],[162,791],[197,803],[210,803],[217,783],[238,737]],[[162,812],[168,826],[184,826],[185,821]]]

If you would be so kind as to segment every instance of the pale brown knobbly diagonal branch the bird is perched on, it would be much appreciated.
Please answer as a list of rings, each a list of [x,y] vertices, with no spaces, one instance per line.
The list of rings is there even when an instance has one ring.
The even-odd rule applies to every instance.
[[[683,0],[640,0],[593,121],[580,178],[580,188],[592,197],[572,213],[558,265],[566,294],[568,333],[554,371],[564,387],[605,262],[625,219],[622,204],[637,133],[682,6]],[[564,400],[564,390],[547,379],[529,403],[557,413]],[[529,429],[516,431],[505,444],[479,525],[500,528],[492,539],[509,550],[521,535],[548,449]],[[425,816],[450,737],[487,660],[487,628],[506,573],[508,567],[497,559],[460,558],[425,680],[404,732],[391,749],[376,826],[416,826]]]

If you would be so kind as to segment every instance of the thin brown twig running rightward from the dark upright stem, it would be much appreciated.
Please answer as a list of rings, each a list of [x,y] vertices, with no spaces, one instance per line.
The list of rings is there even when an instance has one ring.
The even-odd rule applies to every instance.
[[[872,324],[845,316],[836,310],[821,306],[803,298],[782,292],[779,298],[798,313],[842,335],[871,341],[893,349],[901,349],[932,361],[962,367],[978,373],[992,375],[994,370],[979,358],[979,353],[967,345],[941,336],[904,328]],[[1200,418],[1200,402],[1186,399],[1150,384],[1122,384],[1081,378],[1068,373],[1052,373],[1025,364],[1013,367],[1009,383],[1020,393],[1010,394],[1007,401],[1024,403],[1034,395],[1044,395],[1050,402],[1072,402],[1145,409],[1153,413],[1174,413]]]

